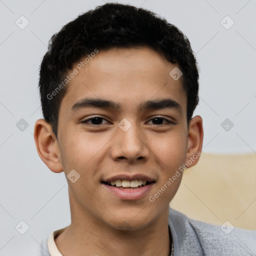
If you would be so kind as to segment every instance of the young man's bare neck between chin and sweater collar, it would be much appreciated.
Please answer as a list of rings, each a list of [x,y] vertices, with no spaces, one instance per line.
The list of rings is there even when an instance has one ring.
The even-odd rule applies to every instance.
[[[168,207],[154,221],[136,230],[111,228],[80,212],[71,209],[71,224],[55,238],[63,256],[169,255]]]

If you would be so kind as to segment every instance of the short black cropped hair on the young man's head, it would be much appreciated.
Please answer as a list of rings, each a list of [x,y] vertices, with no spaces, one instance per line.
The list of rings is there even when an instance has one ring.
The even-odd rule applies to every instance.
[[[178,65],[186,92],[188,125],[198,104],[197,62],[189,40],[176,26],[152,11],[112,2],[79,14],[48,42],[38,87],[43,117],[52,125],[56,138],[60,103],[67,91],[63,81],[67,82],[67,72],[73,65],[95,49],[140,46],[148,46]]]

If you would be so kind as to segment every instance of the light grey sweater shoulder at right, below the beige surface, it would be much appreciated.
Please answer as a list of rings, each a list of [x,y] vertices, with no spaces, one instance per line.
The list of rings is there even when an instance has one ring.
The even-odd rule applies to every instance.
[[[169,225],[176,247],[187,247],[188,243],[197,247],[198,255],[256,255],[255,230],[209,224],[191,219],[172,208],[169,208]]]

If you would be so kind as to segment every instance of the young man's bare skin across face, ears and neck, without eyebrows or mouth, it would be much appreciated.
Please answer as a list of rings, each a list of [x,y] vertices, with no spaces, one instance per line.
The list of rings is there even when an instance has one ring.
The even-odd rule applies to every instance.
[[[36,121],[34,138],[42,161],[53,172],[64,171],[66,176],[75,169],[80,174],[74,183],[67,178],[71,224],[55,239],[63,256],[168,255],[168,205],[182,172],[154,202],[148,197],[201,152],[203,140],[199,115],[187,128],[182,76],[174,80],[169,75],[175,66],[148,47],[100,50],[68,83],[60,105],[58,140],[49,123]],[[113,100],[121,108],[71,111],[84,97]],[[160,98],[177,101],[181,111],[137,111],[141,102]],[[175,124],[153,122],[156,115]],[[95,116],[104,118],[101,124],[81,123]],[[127,131],[118,126],[123,118],[131,123]],[[156,182],[146,196],[123,200],[100,183],[118,173],[141,173]]]

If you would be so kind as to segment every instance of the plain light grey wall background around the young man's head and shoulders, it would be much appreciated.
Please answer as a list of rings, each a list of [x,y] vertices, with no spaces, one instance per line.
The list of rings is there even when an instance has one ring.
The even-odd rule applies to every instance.
[[[22,255],[70,223],[64,173],[51,172],[34,144],[34,122],[42,118],[38,68],[51,35],[104,2],[0,0],[0,255]],[[203,151],[255,153],[256,0],[118,2],[150,9],[188,37],[200,71],[194,114],[203,118]],[[24,29],[15,23],[21,15],[29,21]],[[28,123],[23,131],[16,126],[21,118]],[[226,118],[234,124],[229,131],[221,127]],[[21,220],[29,226],[23,235],[15,229]]]

